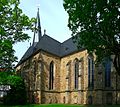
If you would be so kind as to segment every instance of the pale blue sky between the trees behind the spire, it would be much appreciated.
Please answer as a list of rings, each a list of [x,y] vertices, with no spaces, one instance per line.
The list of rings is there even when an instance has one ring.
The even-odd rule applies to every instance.
[[[37,9],[40,10],[40,20],[42,34],[63,42],[71,37],[71,31],[67,27],[68,14],[63,8],[63,0],[21,0],[20,8],[30,18],[37,16]],[[14,45],[15,55],[18,61],[30,47],[33,41],[33,32],[27,31],[31,37],[29,41],[17,43]]]

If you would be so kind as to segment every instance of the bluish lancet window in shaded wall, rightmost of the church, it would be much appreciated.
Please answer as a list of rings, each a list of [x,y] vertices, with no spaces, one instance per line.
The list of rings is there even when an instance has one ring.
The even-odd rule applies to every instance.
[[[111,86],[111,61],[110,58],[105,59],[105,86]]]

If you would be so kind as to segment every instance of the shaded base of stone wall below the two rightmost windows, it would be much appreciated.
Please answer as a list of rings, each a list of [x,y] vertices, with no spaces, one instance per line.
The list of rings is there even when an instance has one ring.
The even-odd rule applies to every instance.
[[[116,99],[117,94],[117,99]],[[101,91],[101,95],[98,94],[98,91],[88,91],[86,94],[86,104],[88,105],[112,105],[112,104],[120,104],[120,92],[116,93],[115,90]]]

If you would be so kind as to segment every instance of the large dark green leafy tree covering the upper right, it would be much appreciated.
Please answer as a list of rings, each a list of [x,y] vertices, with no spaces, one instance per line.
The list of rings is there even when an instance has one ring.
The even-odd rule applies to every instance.
[[[120,75],[120,0],[64,0],[63,5],[78,47],[95,53],[97,62],[114,56]]]

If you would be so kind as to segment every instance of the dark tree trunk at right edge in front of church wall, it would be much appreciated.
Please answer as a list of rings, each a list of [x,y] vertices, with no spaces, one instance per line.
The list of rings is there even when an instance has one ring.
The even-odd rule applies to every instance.
[[[115,55],[113,64],[117,74],[120,76],[120,54]]]

